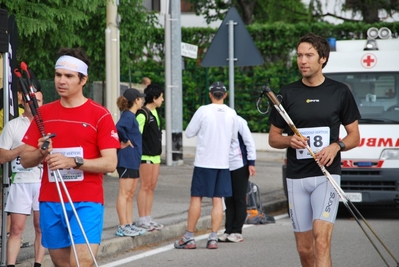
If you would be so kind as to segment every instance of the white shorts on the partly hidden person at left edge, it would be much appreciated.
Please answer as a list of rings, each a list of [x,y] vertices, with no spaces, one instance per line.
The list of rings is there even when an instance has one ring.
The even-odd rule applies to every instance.
[[[5,207],[6,212],[30,215],[39,210],[40,183],[11,184]]]

